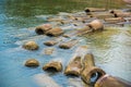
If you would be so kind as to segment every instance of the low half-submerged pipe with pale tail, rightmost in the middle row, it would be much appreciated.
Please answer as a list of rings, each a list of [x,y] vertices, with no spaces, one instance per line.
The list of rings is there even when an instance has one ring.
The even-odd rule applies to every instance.
[[[78,42],[79,42],[79,40],[72,39],[72,40],[69,40],[69,41],[67,41],[67,42],[60,44],[59,47],[62,48],[62,49],[70,49],[70,48],[72,48],[74,45],[76,45]]]

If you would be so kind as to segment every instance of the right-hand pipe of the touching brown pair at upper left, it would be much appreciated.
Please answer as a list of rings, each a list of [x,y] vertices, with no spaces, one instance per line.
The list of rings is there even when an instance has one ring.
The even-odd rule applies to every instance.
[[[46,35],[47,36],[60,36],[60,35],[62,35],[63,34],[63,30],[61,29],[61,28],[59,28],[59,27],[57,27],[57,28],[52,28],[52,29],[50,29],[50,30],[48,30],[47,33],[46,33]]]

